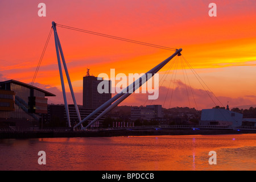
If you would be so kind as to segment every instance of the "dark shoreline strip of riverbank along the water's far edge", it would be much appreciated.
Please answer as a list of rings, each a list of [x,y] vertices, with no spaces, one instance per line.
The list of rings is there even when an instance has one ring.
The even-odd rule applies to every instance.
[[[249,134],[256,130],[230,130],[230,129],[162,129],[162,130],[104,130],[104,131],[1,131],[0,139],[26,139],[26,138],[73,138],[73,137],[125,137],[147,135],[224,135]]]

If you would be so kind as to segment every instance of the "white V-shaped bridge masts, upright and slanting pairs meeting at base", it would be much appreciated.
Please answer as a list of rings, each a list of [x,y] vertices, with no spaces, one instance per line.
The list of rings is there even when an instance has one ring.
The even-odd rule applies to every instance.
[[[65,110],[66,110],[67,118],[68,118],[68,126],[71,127],[71,123],[70,123],[70,118],[69,118],[69,110],[68,110],[68,104],[67,104],[67,97],[66,97],[66,93],[65,93],[65,85],[64,85],[64,80],[63,80],[63,74],[62,74],[62,70],[61,70],[60,55],[61,55],[61,60],[63,61],[63,67],[65,69],[65,73],[66,73],[66,76],[67,76],[69,88],[71,90],[71,94],[72,94],[73,102],[74,102],[74,105],[75,105],[77,117],[79,118],[79,123],[77,123],[77,125],[75,125],[73,127],[73,129],[76,129],[76,127],[78,127],[80,125],[81,125],[81,127],[83,127],[82,123],[84,123],[85,121],[88,121],[88,119],[92,118],[94,115],[96,115],[97,113],[100,113],[100,111],[103,110],[100,115],[98,115],[95,119],[93,119],[92,122],[90,122],[86,127],[84,127],[84,129],[88,129],[89,126],[93,125],[93,123],[98,121],[98,119],[103,117],[110,110],[114,109],[115,106],[117,106],[123,100],[125,100],[127,97],[129,97],[130,94],[135,92],[135,90],[137,90],[145,82],[150,80],[150,78],[152,76],[154,76],[154,74],[157,73],[161,68],[163,68],[164,65],[166,65],[172,58],[174,58],[176,55],[181,56],[180,52],[182,51],[182,49],[181,48],[180,49],[176,49],[176,51],[175,51],[175,53],[173,55],[168,57],[166,60],[162,61],[162,63],[156,65],[156,67],[150,69],[150,71],[148,71],[147,73],[142,75],[140,78],[135,80],[132,84],[127,86],[127,88],[123,89],[121,92],[116,94],[114,97],[110,98],[110,100],[106,101],[104,104],[102,104],[96,110],[94,110],[91,114],[89,114],[87,117],[85,117],[84,119],[81,120],[79,109],[78,109],[78,106],[77,106],[77,103],[76,103],[75,94],[73,92],[71,80],[70,80],[70,77],[69,77],[69,74],[68,74],[68,68],[67,68],[67,65],[65,63],[65,59],[64,59],[64,55],[63,55],[63,50],[62,50],[61,45],[60,45],[59,36],[57,35],[56,23],[55,22],[52,22],[52,27],[53,27],[54,37],[55,37],[55,47],[56,47],[57,61],[58,61],[58,65],[59,65],[61,88],[62,88],[62,91],[63,91]]]

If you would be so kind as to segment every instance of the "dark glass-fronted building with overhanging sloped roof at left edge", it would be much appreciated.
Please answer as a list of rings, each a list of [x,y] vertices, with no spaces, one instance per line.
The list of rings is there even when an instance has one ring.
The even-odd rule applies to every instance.
[[[16,80],[0,82],[0,127],[39,126],[48,96],[55,95]]]

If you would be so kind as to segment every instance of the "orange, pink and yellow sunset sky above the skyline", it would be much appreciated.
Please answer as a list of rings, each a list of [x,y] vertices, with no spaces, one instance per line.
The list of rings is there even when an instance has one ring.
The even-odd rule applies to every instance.
[[[41,2],[46,4],[46,17],[38,16]],[[211,2],[217,5],[216,17],[208,15]],[[231,108],[256,106],[255,8],[254,0],[2,0],[0,81],[32,81],[51,22],[55,21],[102,34],[183,48],[184,58],[222,104],[213,103],[191,69],[185,67],[191,84],[188,85],[179,64],[174,87],[172,82],[170,84],[174,71],[169,72],[163,84],[159,83],[162,86],[158,100],[147,101],[147,94],[132,94],[121,105],[162,104],[163,107],[198,109],[211,108],[215,104],[229,104]],[[145,73],[174,53],[61,27],[57,27],[57,32],[78,104],[82,104],[82,77],[86,68],[94,76],[110,75],[110,69],[115,69],[115,74]],[[159,79],[170,64],[160,70]],[[69,91],[67,82],[65,85]],[[35,86],[56,94],[55,98],[48,98],[49,104],[63,103],[53,34]],[[72,104],[71,96],[68,99]]]

